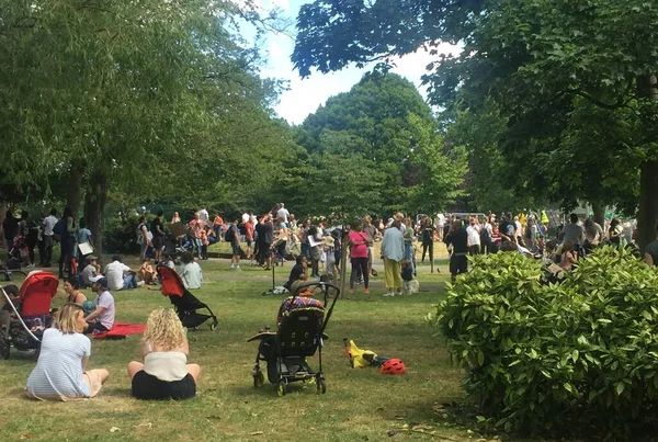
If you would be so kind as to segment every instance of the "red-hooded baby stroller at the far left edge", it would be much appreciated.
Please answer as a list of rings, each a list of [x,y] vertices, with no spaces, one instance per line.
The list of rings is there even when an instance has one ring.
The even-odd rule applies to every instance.
[[[19,291],[18,302],[0,287],[10,311],[0,315],[0,356],[9,359],[10,347],[19,351],[41,349],[43,332],[53,324],[50,301],[57,293],[59,281],[49,272],[35,272],[27,276]],[[15,303],[15,304],[14,304]]]

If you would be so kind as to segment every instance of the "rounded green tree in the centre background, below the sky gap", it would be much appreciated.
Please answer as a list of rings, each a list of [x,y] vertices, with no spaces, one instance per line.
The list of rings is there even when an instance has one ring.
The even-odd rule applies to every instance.
[[[460,194],[466,169],[463,149],[446,146],[413,84],[394,73],[365,75],[350,92],[329,99],[298,127],[298,139],[311,155],[341,156],[360,174],[378,174],[362,188],[381,190],[376,213],[445,207]],[[342,188],[334,189],[327,192]]]

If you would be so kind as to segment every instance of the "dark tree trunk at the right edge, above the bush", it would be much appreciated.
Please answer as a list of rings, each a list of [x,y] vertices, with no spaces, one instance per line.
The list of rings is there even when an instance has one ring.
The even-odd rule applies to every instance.
[[[658,219],[658,160],[645,161],[639,167],[639,214],[637,245],[644,248],[656,239]]]

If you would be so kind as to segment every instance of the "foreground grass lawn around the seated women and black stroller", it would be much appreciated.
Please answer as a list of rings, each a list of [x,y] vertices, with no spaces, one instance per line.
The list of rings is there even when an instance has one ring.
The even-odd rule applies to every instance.
[[[128,262],[135,264],[136,261]],[[138,337],[124,341],[92,340],[90,367],[106,367],[111,378],[100,396],[79,403],[35,403],[23,388],[34,359],[12,349],[0,371],[0,440],[68,441],[383,441],[476,440],[469,430],[446,422],[441,405],[463,400],[461,371],[450,362],[439,338],[423,317],[442,296],[446,269],[430,274],[419,269],[421,292],[385,298],[382,277],[371,295],[356,290],[339,299],[331,318],[324,352],[328,390],[321,396],[310,385],[285,397],[274,386],[252,386],[251,369],[257,343],[247,343],[263,325],[275,326],[281,296],[263,296],[271,274],[243,267],[229,272],[227,261],[204,261],[204,287],[195,295],[215,311],[217,331],[203,326],[190,331],[190,362],[203,369],[196,398],[149,403],[131,398],[126,364],[138,358]],[[279,268],[277,283],[292,264]],[[382,274],[382,272],[381,272]],[[377,283],[379,281],[379,283]],[[423,291],[423,286],[426,287]],[[429,290],[428,290],[429,287]],[[88,295],[91,296],[89,291]],[[159,291],[146,287],[114,293],[117,320],[145,322],[149,311],[169,306]],[[59,293],[54,305],[64,302]],[[353,370],[343,354],[342,338],[361,348],[400,358],[404,376],[384,376],[376,369]],[[311,359],[317,367],[317,358]],[[405,431],[411,422],[419,431]],[[412,427],[412,426],[411,426]],[[396,430],[395,435],[388,432]],[[400,431],[401,430],[401,431]],[[444,439],[438,438],[443,437]]]

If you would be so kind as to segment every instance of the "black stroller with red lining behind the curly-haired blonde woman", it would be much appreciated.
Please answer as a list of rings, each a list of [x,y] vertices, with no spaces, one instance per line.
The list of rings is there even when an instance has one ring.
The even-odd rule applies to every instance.
[[[181,322],[183,322],[183,327],[195,330],[206,320],[213,319],[211,330],[215,331],[217,329],[217,317],[213,314],[211,307],[198,301],[185,288],[181,276],[179,276],[175,270],[166,265],[158,265],[156,271],[158,272],[158,276],[162,284],[160,291],[162,292],[162,295],[168,296],[171,304],[173,304],[173,308],[181,319]],[[198,313],[197,310],[200,309],[208,310],[209,315]]]

